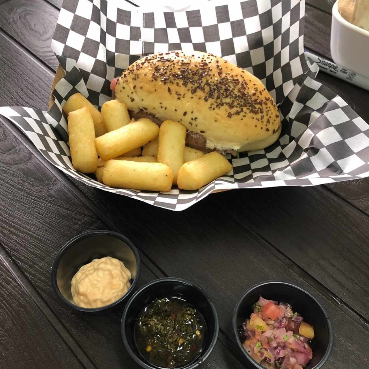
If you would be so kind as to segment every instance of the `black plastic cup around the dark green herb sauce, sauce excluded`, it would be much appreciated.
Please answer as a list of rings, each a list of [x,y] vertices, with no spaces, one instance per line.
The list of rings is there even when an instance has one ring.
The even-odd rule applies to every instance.
[[[183,279],[156,279],[141,287],[133,294],[125,306],[122,316],[121,332],[124,346],[132,359],[141,365],[142,368],[158,368],[146,361],[138,352],[134,342],[134,327],[142,309],[153,300],[163,297],[179,297],[187,301],[189,304],[194,306],[204,318],[206,330],[204,332],[201,352],[194,361],[181,367],[182,369],[196,368],[209,356],[217,341],[219,331],[218,315],[213,303],[210,301],[206,293],[192,282],[188,282]]]

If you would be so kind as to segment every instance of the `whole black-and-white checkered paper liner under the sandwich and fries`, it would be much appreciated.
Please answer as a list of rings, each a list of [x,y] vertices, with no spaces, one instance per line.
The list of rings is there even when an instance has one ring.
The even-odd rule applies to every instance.
[[[318,67],[304,58],[304,1],[230,3],[213,0],[198,8],[147,13],[125,1],[64,0],[52,47],[66,76],[53,91],[54,105],[48,112],[2,107],[0,114],[66,174],[170,210],[184,210],[214,190],[312,186],[369,176],[369,126],[315,80]],[[259,77],[279,104],[279,140],[240,158],[228,155],[232,171],[197,191],[114,189],[77,172],[61,108],[69,96],[80,92],[101,107],[111,99],[110,80],[130,63],[175,49],[211,52]]]

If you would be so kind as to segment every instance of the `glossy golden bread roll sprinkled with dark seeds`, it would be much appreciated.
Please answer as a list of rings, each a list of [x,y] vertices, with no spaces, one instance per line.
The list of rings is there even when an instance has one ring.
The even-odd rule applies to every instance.
[[[203,135],[210,149],[242,150],[254,142],[266,147],[280,132],[278,109],[262,82],[211,54],[145,56],[122,73],[115,95],[131,111],[182,123]]]

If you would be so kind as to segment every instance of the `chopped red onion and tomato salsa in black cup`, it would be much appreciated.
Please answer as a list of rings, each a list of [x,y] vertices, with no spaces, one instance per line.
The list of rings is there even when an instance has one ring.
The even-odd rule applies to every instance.
[[[288,303],[260,297],[239,329],[248,354],[268,369],[303,369],[313,358],[314,328]]]

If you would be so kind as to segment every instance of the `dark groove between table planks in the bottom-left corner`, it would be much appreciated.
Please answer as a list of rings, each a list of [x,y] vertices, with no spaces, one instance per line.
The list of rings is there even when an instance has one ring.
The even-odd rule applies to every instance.
[[[59,320],[59,318],[54,314],[49,304],[44,300],[44,298],[39,294],[39,292],[35,289],[30,280],[25,276],[23,271],[19,268],[17,263],[11,258],[3,244],[0,242],[0,259],[6,268],[9,270],[14,279],[18,282],[24,292],[30,297],[32,301],[34,301],[37,308],[40,310],[42,315],[44,315],[45,319],[52,325],[56,334],[65,342],[66,346],[73,353],[77,361],[83,366],[83,368],[96,368],[94,363],[91,361],[89,356],[83,350],[83,348],[79,345],[77,341],[73,338],[73,336],[69,333],[69,331],[64,326],[63,322]],[[48,310],[48,314],[46,314],[45,310]],[[55,323],[58,323],[59,329],[55,327]],[[60,331],[60,328],[64,331],[63,334]],[[71,342],[72,344],[71,345]],[[72,347],[73,346],[73,347]],[[77,351],[77,352],[76,352]]]

